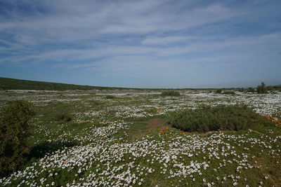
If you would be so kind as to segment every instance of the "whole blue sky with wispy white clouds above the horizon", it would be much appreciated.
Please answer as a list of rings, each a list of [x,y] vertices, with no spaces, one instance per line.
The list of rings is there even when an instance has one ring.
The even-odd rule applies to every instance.
[[[280,10],[280,0],[0,0],[0,76],[126,88],[280,85]]]

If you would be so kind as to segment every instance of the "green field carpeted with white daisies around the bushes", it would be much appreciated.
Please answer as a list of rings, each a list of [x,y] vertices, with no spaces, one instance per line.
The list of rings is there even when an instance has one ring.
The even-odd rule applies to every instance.
[[[30,158],[1,186],[281,186],[281,92],[179,92],[1,91],[0,107],[26,99],[36,111]],[[202,104],[237,103],[268,125],[205,134],[148,125]]]

